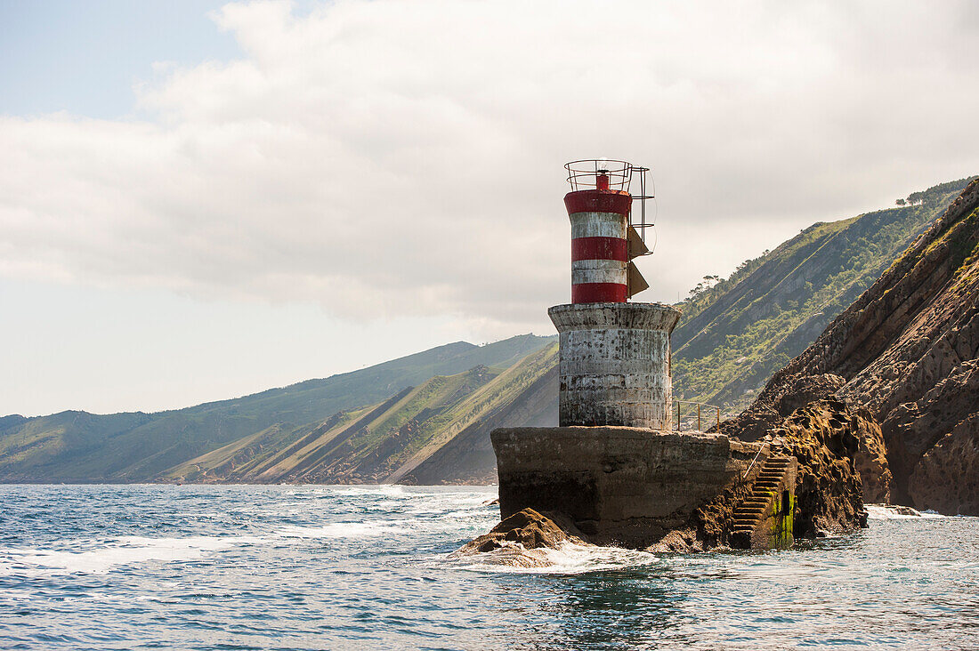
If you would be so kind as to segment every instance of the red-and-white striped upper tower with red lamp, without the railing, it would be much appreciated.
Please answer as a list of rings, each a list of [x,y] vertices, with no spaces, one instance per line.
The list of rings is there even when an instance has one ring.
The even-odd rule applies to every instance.
[[[608,169],[595,187],[569,192],[571,302],[626,302],[629,298],[629,209],[632,196],[609,187]]]

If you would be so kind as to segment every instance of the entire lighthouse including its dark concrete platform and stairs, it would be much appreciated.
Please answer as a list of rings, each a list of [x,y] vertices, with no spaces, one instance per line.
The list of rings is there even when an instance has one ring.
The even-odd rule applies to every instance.
[[[592,542],[641,549],[699,532],[698,509],[743,488],[748,497],[724,524],[731,544],[791,544],[794,457],[673,427],[670,335],[680,313],[632,301],[648,287],[634,263],[650,254],[648,169],[605,159],[565,168],[571,302],[547,310],[560,335],[559,424],[490,433],[501,518],[531,509],[527,518],[560,516]]]

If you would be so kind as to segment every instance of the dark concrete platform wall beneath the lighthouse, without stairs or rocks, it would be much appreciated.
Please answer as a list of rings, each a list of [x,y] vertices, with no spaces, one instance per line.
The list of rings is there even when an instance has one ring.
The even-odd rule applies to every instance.
[[[644,547],[748,469],[759,443],[632,427],[494,430],[503,518],[531,507],[570,517],[595,542]]]

